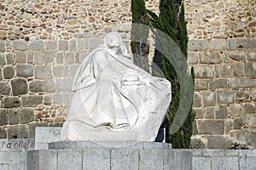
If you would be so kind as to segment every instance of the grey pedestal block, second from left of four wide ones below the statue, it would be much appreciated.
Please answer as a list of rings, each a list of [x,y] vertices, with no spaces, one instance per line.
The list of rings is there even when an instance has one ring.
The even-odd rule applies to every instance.
[[[83,169],[110,170],[110,161],[110,149],[83,150]]]

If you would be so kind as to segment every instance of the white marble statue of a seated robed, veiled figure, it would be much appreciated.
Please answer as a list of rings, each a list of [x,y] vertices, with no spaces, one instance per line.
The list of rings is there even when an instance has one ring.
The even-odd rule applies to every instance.
[[[133,64],[118,33],[79,65],[61,140],[154,141],[171,102],[171,83]]]

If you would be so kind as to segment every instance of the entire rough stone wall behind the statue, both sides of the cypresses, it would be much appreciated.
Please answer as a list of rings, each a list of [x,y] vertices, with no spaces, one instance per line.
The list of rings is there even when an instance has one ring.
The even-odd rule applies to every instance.
[[[158,12],[159,1],[146,1]],[[256,148],[254,0],[185,0],[195,68],[192,148]],[[0,0],[0,138],[62,126],[79,63],[110,31],[129,44],[131,1]]]

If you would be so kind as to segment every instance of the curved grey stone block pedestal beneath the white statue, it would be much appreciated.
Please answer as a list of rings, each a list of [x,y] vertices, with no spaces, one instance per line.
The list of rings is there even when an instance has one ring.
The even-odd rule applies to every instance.
[[[155,142],[55,142],[49,150],[29,151],[28,160],[31,170],[192,169],[191,151]]]

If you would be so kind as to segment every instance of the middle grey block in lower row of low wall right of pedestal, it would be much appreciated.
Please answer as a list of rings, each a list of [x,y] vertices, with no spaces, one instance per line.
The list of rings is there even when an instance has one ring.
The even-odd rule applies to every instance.
[[[212,170],[239,170],[238,157],[213,157]]]

